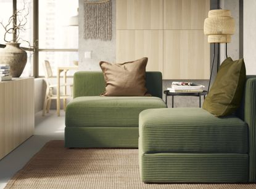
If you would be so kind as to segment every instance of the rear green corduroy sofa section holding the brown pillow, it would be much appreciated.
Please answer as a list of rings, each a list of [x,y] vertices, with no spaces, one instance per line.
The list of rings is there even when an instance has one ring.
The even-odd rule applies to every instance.
[[[161,72],[146,72],[152,96],[99,96],[105,90],[102,72],[76,72],[74,99],[65,113],[65,147],[138,148],[139,113],[165,108]]]

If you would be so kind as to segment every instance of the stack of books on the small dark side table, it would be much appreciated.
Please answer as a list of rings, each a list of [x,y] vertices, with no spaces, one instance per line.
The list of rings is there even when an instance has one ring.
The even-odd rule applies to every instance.
[[[191,82],[172,82],[171,88],[167,88],[171,93],[201,93],[204,85],[196,85]]]

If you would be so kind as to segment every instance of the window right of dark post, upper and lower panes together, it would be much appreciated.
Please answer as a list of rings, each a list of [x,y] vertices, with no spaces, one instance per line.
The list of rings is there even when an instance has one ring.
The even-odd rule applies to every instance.
[[[57,66],[78,61],[78,26],[68,26],[69,18],[77,14],[78,1],[39,0],[39,7],[39,75],[44,75],[44,60],[49,60],[56,75]]]

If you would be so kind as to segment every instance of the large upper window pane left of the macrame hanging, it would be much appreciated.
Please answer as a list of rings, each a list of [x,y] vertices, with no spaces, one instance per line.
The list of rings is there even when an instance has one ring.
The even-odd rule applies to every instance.
[[[78,48],[78,26],[68,26],[77,9],[78,0],[39,0],[39,48]]]

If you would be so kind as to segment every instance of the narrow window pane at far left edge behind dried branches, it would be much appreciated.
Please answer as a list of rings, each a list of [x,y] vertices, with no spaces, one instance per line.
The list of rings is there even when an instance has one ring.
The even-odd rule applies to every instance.
[[[10,0],[0,0],[0,21],[7,25],[9,18],[12,16],[12,1]],[[6,44],[4,41],[4,28],[0,25],[0,44]],[[7,40],[11,40],[12,35],[7,36]]]

